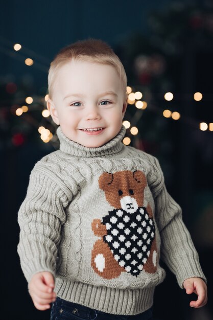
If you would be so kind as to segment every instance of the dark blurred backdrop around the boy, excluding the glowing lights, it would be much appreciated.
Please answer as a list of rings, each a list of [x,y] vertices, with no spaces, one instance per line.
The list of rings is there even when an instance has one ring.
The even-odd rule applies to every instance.
[[[25,198],[29,174],[45,154],[58,148],[43,143],[40,125],[55,133],[44,119],[50,62],[65,45],[87,37],[107,41],[121,58],[133,91],[141,90],[146,110],[128,106],[125,120],[138,127],[131,145],[158,157],[169,193],[181,205],[183,220],[192,234],[208,280],[209,302],[189,307],[191,298],[167,269],[156,288],[156,319],[210,320],[213,318],[213,132],[199,129],[213,122],[213,3],[212,1],[46,0],[2,1],[0,10],[0,174],[2,220],[2,292],[4,319],[45,320],[49,311],[34,308],[17,255],[17,212]],[[13,44],[22,50],[15,52]],[[27,66],[25,58],[34,64]],[[154,67],[155,66],[155,67]],[[153,71],[154,70],[154,71]],[[16,88],[14,88],[14,84]],[[12,89],[11,89],[12,88]],[[165,92],[174,99],[165,101]],[[195,92],[203,99],[196,102]],[[34,97],[29,111],[14,113]],[[178,111],[178,121],[162,116]],[[54,135],[55,137],[55,135]]]

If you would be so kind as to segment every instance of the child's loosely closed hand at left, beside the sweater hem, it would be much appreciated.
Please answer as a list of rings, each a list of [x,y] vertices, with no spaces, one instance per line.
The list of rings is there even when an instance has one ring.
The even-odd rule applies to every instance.
[[[29,282],[28,288],[34,306],[38,310],[50,309],[50,304],[56,300],[54,277],[51,272],[35,273]]]

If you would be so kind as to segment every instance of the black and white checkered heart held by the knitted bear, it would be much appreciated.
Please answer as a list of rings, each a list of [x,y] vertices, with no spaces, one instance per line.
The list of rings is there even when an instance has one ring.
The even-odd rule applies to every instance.
[[[114,259],[133,276],[138,276],[150,255],[155,237],[153,218],[149,218],[145,207],[135,213],[115,209],[103,217],[108,243]]]

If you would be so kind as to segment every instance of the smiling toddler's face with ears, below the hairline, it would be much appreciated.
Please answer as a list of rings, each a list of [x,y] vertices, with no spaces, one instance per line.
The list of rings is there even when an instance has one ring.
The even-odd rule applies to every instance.
[[[121,130],[127,101],[114,67],[70,61],[58,71],[47,106],[67,138],[97,148]]]

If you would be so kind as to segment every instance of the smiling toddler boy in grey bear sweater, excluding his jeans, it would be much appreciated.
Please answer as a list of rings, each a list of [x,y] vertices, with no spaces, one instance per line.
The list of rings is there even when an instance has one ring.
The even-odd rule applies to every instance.
[[[198,254],[157,158],[122,143],[126,86],[101,40],[68,45],[51,63],[47,107],[60,150],[36,163],[18,212],[18,254],[39,310],[57,296],[100,313],[144,314],[165,277],[160,258],[198,295],[190,305],[206,304]]]

